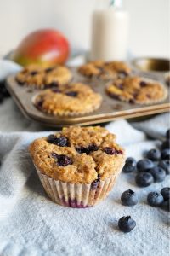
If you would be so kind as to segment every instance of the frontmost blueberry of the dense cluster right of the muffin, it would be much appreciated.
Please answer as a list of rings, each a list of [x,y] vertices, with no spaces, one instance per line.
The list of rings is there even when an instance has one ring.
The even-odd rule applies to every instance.
[[[136,183],[139,187],[148,187],[153,182],[154,178],[150,172],[139,172],[136,176]]]

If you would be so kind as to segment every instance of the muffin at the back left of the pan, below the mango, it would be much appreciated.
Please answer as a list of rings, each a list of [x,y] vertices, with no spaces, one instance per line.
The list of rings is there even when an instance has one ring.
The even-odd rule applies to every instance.
[[[67,84],[71,78],[71,71],[64,66],[40,67],[31,65],[16,75],[18,84],[41,89]]]

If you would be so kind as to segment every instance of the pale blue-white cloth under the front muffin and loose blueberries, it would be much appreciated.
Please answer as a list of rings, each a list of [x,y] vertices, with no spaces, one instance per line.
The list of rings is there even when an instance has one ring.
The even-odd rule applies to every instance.
[[[161,119],[164,134],[168,114],[161,115]],[[151,123],[153,132],[159,133],[155,119]],[[160,143],[147,140],[144,132],[135,130],[125,120],[106,127],[116,133],[127,155],[137,160],[145,150]],[[108,198],[98,206],[61,207],[45,194],[27,149],[33,139],[48,133],[0,133],[0,255],[168,255],[169,213],[148,206],[146,197],[149,191],[167,186],[169,176],[162,183],[140,189],[133,174],[121,173]],[[138,193],[138,205],[122,206],[120,197],[126,189]],[[127,215],[137,225],[131,233],[124,234],[118,230],[117,221]]]

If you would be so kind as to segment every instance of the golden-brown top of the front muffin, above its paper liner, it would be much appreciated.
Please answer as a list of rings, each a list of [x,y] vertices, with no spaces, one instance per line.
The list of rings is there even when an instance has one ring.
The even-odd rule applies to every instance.
[[[71,126],[31,143],[37,168],[48,177],[69,183],[93,183],[120,172],[124,150],[116,136],[96,126]]]

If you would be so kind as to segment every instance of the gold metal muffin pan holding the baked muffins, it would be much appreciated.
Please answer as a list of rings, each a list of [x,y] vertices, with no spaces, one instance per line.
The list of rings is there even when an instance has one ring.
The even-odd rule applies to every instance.
[[[166,100],[152,105],[138,105],[120,102],[111,98],[105,93],[105,86],[107,83],[104,81],[82,77],[81,74],[77,73],[77,67],[70,67],[70,69],[73,73],[73,83],[82,82],[84,84],[88,84],[94,89],[94,91],[101,94],[103,97],[103,102],[98,110],[94,111],[93,113],[83,114],[75,117],[54,116],[51,114],[42,113],[34,106],[33,101],[40,90],[20,86],[20,84],[15,81],[14,76],[8,77],[7,89],[11,96],[13,96],[14,102],[16,102],[21,112],[26,116],[27,119],[37,121],[42,125],[53,127],[61,127],[66,125],[95,125],[115,119],[129,119],[154,113],[168,112],[170,109],[169,91]],[[146,73],[143,73],[142,71],[133,71],[133,74],[148,79],[156,79],[161,82],[161,84],[164,84],[163,74],[153,75],[148,73],[146,75]]]

